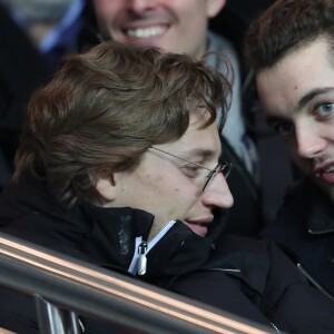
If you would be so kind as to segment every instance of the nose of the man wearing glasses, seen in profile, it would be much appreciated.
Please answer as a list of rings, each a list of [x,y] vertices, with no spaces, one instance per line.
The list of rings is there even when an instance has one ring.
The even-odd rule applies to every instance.
[[[205,188],[203,203],[206,206],[219,208],[229,208],[233,206],[234,199],[222,173],[217,174],[207,188]]]

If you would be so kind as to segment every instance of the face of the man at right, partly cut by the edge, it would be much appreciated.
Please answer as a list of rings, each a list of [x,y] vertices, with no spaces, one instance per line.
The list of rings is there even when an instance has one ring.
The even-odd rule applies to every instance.
[[[320,38],[261,70],[257,88],[268,124],[283,136],[293,160],[334,202],[332,52]]]

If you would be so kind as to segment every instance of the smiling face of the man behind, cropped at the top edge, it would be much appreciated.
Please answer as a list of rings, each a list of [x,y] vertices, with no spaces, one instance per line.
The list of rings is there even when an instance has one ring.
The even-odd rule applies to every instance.
[[[116,41],[200,58],[208,19],[226,0],[94,0],[99,28]]]

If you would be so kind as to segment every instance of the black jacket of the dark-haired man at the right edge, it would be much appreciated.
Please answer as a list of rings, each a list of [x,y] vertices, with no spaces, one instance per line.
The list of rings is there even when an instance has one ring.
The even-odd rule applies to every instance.
[[[316,185],[305,179],[292,187],[277,219],[262,235],[334,301],[334,207]]]

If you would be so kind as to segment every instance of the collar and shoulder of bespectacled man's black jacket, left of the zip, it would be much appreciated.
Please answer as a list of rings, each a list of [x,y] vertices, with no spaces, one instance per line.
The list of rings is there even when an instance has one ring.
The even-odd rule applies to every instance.
[[[154,216],[132,208],[61,206],[30,174],[9,185],[0,200],[0,226],[9,234],[100,266],[127,271],[136,237],[147,239]]]

